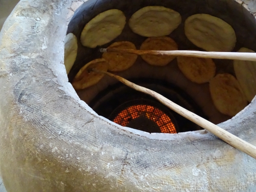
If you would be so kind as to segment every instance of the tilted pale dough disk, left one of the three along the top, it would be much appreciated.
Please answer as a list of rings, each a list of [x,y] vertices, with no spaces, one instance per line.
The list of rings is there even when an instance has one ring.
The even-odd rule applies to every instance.
[[[121,34],[125,27],[125,15],[118,9],[100,13],[90,20],[81,33],[81,44],[95,48],[109,43]]]

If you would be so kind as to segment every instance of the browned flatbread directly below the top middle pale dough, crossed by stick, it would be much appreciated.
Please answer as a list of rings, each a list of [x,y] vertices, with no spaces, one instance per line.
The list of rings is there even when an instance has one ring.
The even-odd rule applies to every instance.
[[[140,50],[159,50],[159,51],[169,51],[178,50],[178,46],[175,41],[169,37],[152,37],[147,38],[140,46]],[[155,66],[165,66],[176,56],[166,56],[166,55],[141,55],[144,61],[148,64]]]

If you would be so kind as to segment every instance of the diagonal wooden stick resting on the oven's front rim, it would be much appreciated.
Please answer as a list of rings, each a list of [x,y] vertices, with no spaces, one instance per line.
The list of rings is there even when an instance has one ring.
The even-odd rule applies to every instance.
[[[228,144],[232,145],[233,147],[243,151],[244,153],[250,155],[254,159],[256,159],[256,147],[250,143],[247,143],[246,141],[240,139],[239,137],[236,137],[235,135],[225,131],[224,129],[218,127],[217,125],[207,121],[206,119],[202,118],[201,116],[196,115],[195,113],[192,113],[191,111],[188,111],[179,105],[175,104],[174,102],[170,101],[166,97],[160,95],[159,93],[156,93],[150,89],[147,89],[145,87],[141,87],[137,84],[132,83],[131,81],[128,81],[120,76],[116,76],[112,73],[108,73],[105,71],[100,71],[96,69],[92,69],[93,71],[97,73],[104,73],[108,76],[111,76],[119,81],[121,81],[123,84],[126,84],[128,87],[131,87],[137,91],[146,93],[148,95],[153,96],[155,99],[163,103],[163,105],[166,105],[168,108],[172,109],[176,113],[179,113],[181,116],[189,119],[190,121],[194,122],[195,124],[201,126],[202,128],[205,128],[207,131],[211,132],[215,136],[221,138]]]

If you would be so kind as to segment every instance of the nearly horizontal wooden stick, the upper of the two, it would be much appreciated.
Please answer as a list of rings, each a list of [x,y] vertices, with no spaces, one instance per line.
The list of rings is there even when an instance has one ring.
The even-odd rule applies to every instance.
[[[121,52],[136,55],[175,55],[200,58],[232,59],[243,61],[256,61],[256,53],[253,52],[205,52],[205,51],[146,51],[136,49],[108,48],[100,49],[100,52]]]

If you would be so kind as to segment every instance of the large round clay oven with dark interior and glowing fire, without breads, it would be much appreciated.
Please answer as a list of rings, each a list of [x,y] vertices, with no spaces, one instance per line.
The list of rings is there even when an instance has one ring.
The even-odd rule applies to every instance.
[[[253,1],[21,1],[0,33],[0,171],[8,191],[255,190],[252,157],[184,122],[154,100],[139,93],[126,94],[131,90],[107,76],[77,92],[69,83],[101,53],[78,41],[77,59],[67,76],[65,35],[72,32],[79,40],[84,25],[108,9],[119,9],[129,19],[144,6],[165,6],[180,13],[182,23],[170,35],[179,49],[195,49],[184,35],[184,20],[204,13],[233,27],[234,51],[256,50]],[[125,26],[115,41],[123,40],[139,46],[145,38]],[[118,74],[176,98],[180,105],[255,145],[255,99],[230,119],[214,107],[208,84],[190,82],[175,62],[153,67],[139,58]],[[215,64],[217,73],[234,75],[232,61],[216,60]],[[125,99],[117,102],[116,98]],[[148,114],[154,111],[151,122],[157,114],[166,114],[169,119],[164,125],[169,126],[154,122],[149,131],[137,126],[141,121],[133,117],[142,108],[148,108]],[[122,118],[125,110],[132,111],[130,120]],[[164,134],[168,131],[179,133]]]

